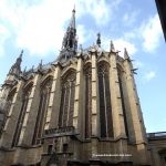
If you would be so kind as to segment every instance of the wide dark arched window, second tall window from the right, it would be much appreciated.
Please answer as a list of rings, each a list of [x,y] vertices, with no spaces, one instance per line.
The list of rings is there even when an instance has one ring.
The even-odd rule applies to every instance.
[[[113,137],[110,72],[105,63],[98,64],[100,123],[101,137]]]

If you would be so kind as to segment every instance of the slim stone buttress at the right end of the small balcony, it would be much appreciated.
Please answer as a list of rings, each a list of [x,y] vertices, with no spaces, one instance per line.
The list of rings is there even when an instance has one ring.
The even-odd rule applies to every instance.
[[[83,111],[83,98],[82,91],[83,89],[83,61],[81,58],[77,58],[77,68],[76,68],[76,82],[75,82],[75,98],[74,98],[74,113],[73,113],[73,126],[76,132],[80,133],[81,123],[79,123],[81,112]]]

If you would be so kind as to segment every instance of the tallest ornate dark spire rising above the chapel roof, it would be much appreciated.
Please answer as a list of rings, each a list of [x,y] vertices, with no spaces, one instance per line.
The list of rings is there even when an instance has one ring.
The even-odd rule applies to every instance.
[[[76,28],[75,28],[75,8],[72,11],[71,22],[62,42],[62,50],[59,60],[66,60],[74,56],[77,50]]]

